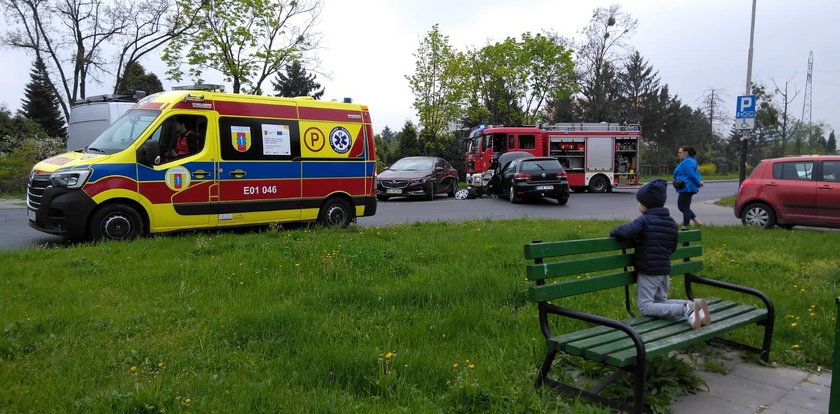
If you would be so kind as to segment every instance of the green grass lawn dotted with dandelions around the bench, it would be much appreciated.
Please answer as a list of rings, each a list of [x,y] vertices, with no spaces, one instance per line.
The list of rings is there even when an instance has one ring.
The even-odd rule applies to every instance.
[[[0,412],[601,412],[533,390],[545,345],[522,245],[601,237],[618,223],[197,233],[0,252]],[[838,233],[704,226],[703,237],[701,274],[775,302],[771,360],[830,366]],[[672,295],[684,295],[677,280]],[[621,297],[576,306],[623,318]],[[760,333],[734,335],[758,343]]]

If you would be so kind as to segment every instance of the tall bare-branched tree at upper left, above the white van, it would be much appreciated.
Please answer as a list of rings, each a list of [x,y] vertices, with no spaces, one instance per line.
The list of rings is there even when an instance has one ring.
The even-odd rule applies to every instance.
[[[180,1],[176,4],[189,0]],[[180,14],[172,5],[170,0],[0,0],[15,23],[2,42],[45,62],[69,119],[70,107],[86,97],[89,82],[114,75],[116,88],[127,65],[196,27],[195,14]]]

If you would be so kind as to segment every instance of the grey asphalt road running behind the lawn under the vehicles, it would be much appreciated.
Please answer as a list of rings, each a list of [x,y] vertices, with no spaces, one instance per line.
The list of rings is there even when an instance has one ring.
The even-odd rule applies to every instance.
[[[364,227],[387,226],[396,223],[462,221],[470,219],[503,220],[518,217],[541,217],[554,219],[602,219],[628,220],[638,216],[636,190],[638,187],[624,187],[612,193],[573,193],[569,203],[560,206],[550,199],[535,202],[511,204],[498,198],[456,200],[439,195],[434,201],[395,198],[379,202],[376,215],[361,217],[357,225]],[[712,202],[721,197],[735,194],[737,181],[708,182],[694,196],[692,209],[706,224],[740,225],[731,208],[718,207]],[[668,193],[665,204],[671,215],[680,220],[676,193]],[[29,227],[23,200],[0,200],[0,250],[14,250],[27,247],[61,247],[72,242],[61,237],[41,233]]]

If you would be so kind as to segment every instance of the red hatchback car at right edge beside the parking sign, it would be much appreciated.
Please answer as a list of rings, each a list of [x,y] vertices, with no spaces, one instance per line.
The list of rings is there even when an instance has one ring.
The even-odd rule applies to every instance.
[[[840,156],[762,160],[738,189],[735,216],[766,229],[840,227]]]

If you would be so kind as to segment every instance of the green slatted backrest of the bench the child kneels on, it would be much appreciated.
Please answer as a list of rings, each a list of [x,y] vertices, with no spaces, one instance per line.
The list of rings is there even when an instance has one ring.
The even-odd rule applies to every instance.
[[[678,232],[677,250],[671,254],[671,275],[703,269],[700,230]],[[633,242],[614,237],[534,242],[525,245],[526,277],[536,284],[528,290],[531,301],[542,302],[636,283]],[[695,260],[691,260],[695,258]]]

